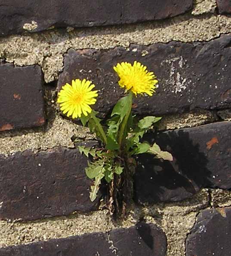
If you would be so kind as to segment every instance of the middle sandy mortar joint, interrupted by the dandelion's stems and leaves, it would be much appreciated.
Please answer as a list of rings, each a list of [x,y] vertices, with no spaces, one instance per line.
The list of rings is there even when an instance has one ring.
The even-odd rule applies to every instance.
[[[52,104],[56,105],[55,103]],[[158,130],[186,128],[213,121],[216,121],[216,116],[212,112],[190,112],[163,117],[157,128]],[[55,110],[54,120],[49,120],[44,128],[6,131],[0,134],[0,144],[2,145],[0,154],[9,156],[15,152],[23,152],[25,150],[32,150],[37,153],[39,150],[53,149],[58,146],[74,148],[73,137],[80,140],[95,139],[95,135],[91,134],[88,128],[64,119]]]

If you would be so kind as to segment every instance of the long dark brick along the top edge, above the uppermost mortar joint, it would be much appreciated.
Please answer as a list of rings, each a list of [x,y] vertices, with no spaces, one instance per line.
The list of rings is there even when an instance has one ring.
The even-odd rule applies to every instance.
[[[55,27],[92,27],[165,19],[187,12],[193,0],[1,0],[0,35],[24,31],[37,22],[33,31]],[[61,15],[62,14],[62,15]]]

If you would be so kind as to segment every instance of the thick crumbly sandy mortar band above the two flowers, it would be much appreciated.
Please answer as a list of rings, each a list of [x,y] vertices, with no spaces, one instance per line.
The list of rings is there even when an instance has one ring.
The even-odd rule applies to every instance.
[[[69,32],[68,32],[69,31]],[[0,58],[18,66],[39,64],[46,82],[58,78],[68,49],[109,49],[130,44],[209,41],[231,31],[231,17],[203,14],[142,24],[46,31],[0,38]]]

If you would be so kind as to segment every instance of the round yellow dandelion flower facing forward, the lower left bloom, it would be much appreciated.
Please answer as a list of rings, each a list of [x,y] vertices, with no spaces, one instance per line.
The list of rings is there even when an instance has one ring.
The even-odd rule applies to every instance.
[[[72,80],[72,84],[65,84],[58,93],[57,102],[60,103],[61,111],[72,118],[87,116],[92,111],[89,105],[96,102],[98,91],[92,91],[95,87],[91,81],[83,79]]]

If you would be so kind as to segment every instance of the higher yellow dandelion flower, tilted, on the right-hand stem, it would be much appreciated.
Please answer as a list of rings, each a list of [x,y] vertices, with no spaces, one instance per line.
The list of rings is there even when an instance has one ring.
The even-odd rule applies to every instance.
[[[140,62],[131,63],[122,62],[114,66],[114,71],[120,77],[120,87],[125,87],[126,91],[131,90],[137,94],[148,94],[152,96],[155,92],[155,84],[158,83],[153,72],[148,72],[147,67]]]

